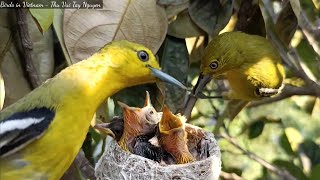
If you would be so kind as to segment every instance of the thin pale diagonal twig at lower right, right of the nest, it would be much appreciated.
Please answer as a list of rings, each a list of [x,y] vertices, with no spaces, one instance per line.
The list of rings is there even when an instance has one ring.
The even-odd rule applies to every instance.
[[[231,137],[227,132],[225,133],[221,133],[220,134],[221,137],[223,137],[225,140],[227,140],[230,144],[232,144],[233,146],[235,146],[236,148],[238,148],[243,154],[247,155],[250,159],[255,160],[256,162],[258,162],[259,164],[261,164],[263,167],[265,167],[266,169],[268,169],[269,171],[277,174],[278,176],[280,176],[282,179],[287,179],[287,180],[295,180],[295,178],[288,173],[286,170],[282,170],[279,169],[278,167],[270,164],[269,162],[267,162],[266,160],[262,159],[261,157],[257,156],[256,154],[247,151],[245,149],[243,149],[237,142],[236,140]]]

